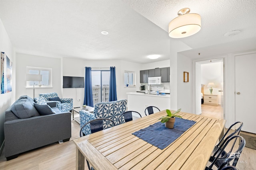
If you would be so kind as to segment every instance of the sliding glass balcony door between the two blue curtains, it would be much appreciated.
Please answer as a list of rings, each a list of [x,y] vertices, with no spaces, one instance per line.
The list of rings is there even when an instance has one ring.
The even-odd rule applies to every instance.
[[[92,70],[93,105],[109,101],[110,70]]]

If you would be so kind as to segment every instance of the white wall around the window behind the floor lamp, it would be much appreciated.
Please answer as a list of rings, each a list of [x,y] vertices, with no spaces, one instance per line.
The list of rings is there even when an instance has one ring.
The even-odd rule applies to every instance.
[[[16,53],[16,62],[16,99],[22,95],[33,98],[33,89],[26,88],[26,66],[52,68],[52,88],[36,88],[35,97],[38,97],[39,93],[56,92],[62,98],[61,59]]]

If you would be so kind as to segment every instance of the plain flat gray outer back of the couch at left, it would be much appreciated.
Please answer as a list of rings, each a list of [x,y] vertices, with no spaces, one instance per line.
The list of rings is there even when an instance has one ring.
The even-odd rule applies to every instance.
[[[4,122],[5,156],[71,137],[71,113],[55,113]]]

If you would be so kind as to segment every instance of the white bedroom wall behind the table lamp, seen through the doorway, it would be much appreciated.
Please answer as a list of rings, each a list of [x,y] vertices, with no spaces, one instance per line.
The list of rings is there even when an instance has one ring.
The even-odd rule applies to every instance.
[[[220,105],[221,89],[221,63],[201,64],[201,84],[204,84],[204,94],[210,94],[210,88],[207,87],[209,82],[214,82],[212,94],[218,94],[218,104]]]

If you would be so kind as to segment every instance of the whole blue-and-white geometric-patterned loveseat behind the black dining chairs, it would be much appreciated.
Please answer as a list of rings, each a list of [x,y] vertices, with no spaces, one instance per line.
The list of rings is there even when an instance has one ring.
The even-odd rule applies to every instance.
[[[86,110],[80,110],[80,127],[82,127],[88,121],[97,118],[111,119],[112,121],[114,121],[115,125],[125,123],[123,116],[120,119],[120,115],[126,111],[126,106],[127,100],[117,100],[113,102],[102,102],[95,104],[93,113],[90,113]],[[110,123],[112,122],[103,122],[103,129],[112,127]],[[84,133],[84,135],[91,134],[90,125],[86,125],[82,132]]]

